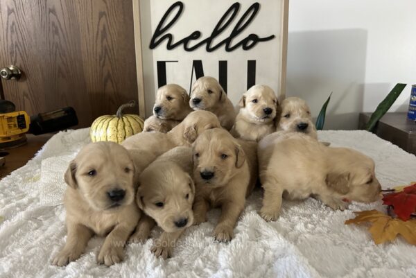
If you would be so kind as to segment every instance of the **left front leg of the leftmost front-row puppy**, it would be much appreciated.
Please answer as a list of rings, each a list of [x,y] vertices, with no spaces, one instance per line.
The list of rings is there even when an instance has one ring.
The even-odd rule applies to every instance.
[[[67,228],[67,243],[52,260],[52,264],[55,266],[66,266],[71,261],[78,259],[83,254],[89,238],[94,234],[91,229],[79,223],[69,222]]]

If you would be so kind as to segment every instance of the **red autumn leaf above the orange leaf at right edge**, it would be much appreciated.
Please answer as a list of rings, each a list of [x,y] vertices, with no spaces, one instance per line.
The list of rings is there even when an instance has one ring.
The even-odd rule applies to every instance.
[[[416,184],[405,187],[401,192],[385,195],[383,205],[392,206],[401,220],[409,220],[410,214],[416,210]]]

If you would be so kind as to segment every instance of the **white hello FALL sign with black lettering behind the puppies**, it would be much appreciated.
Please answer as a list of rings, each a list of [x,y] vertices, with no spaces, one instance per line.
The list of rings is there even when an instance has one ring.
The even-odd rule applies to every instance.
[[[189,92],[201,76],[218,79],[233,103],[254,84],[284,94],[286,0],[139,3],[147,115],[158,87]]]

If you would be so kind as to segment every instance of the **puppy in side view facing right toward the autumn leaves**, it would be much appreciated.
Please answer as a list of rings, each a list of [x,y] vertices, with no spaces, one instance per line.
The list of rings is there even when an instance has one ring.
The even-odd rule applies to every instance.
[[[356,150],[331,148],[300,132],[281,132],[272,148],[259,146],[260,180],[264,188],[260,215],[279,217],[282,196],[313,196],[332,209],[346,209],[349,200],[374,202],[381,186],[374,161]],[[271,153],[268,164],[262,158]]]

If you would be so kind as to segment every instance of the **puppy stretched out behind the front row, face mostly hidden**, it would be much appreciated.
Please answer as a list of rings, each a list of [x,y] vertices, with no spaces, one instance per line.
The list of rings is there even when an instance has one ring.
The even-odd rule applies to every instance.
[[[128,150],[135,164],[135,181],[159,155],[176,146],[191,146],[198,134],[219,127],[216,115],[208,111],[193,111],[168,133],[141,132],[126,138],[121,144]]]

